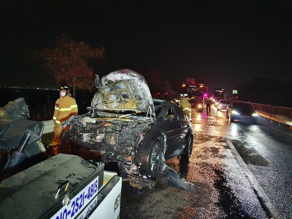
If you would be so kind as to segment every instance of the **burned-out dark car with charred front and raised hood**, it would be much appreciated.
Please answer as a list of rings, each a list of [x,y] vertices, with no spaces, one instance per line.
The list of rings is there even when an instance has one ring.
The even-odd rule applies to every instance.
[[[103,163],[118,163],[128,175],[155,178],[161,162],[189,158],[193,129],[183,109],[152,99],[145,78],[118,70],[95,79],[91,109],[65,121],[61,152]]]

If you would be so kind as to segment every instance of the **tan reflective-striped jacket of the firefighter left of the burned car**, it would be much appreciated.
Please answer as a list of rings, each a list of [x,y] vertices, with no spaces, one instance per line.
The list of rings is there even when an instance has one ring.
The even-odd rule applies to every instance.
[[[56,124],[61,124],[71,116],[77,115],[77,113],[78,108],[75,99],[69,95],[60,96],[55,103],[53,120]]]

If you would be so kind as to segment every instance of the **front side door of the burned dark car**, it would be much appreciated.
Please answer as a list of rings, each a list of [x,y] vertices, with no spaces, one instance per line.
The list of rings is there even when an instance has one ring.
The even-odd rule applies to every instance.
[[[179,155],[181,142],[181,125],[179,123],[175,105],[169,105],[165,113],[164,124],[166,129],[165,159]]]

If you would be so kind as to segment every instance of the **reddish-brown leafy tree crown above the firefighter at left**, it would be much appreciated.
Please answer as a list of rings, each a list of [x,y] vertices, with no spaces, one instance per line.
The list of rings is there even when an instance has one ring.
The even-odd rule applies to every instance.
[[[40,53],[44,66],[53,74],[58,84],[91,90],[94,88],[93,68],[88,65],[89,58],[103,58],[105,49],[91,49],[84,42],[76,42],[66,35],[56,37],[54,49],[43,49]]]

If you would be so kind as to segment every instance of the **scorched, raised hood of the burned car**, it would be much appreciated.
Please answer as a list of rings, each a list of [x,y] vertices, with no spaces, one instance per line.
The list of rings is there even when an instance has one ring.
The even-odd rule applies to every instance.
[[[102,77],[96,75],[98,91],[91,101],[96,110],[131,110],[155,116],[153,99],[145,78],[130,69],[111,72]]]

